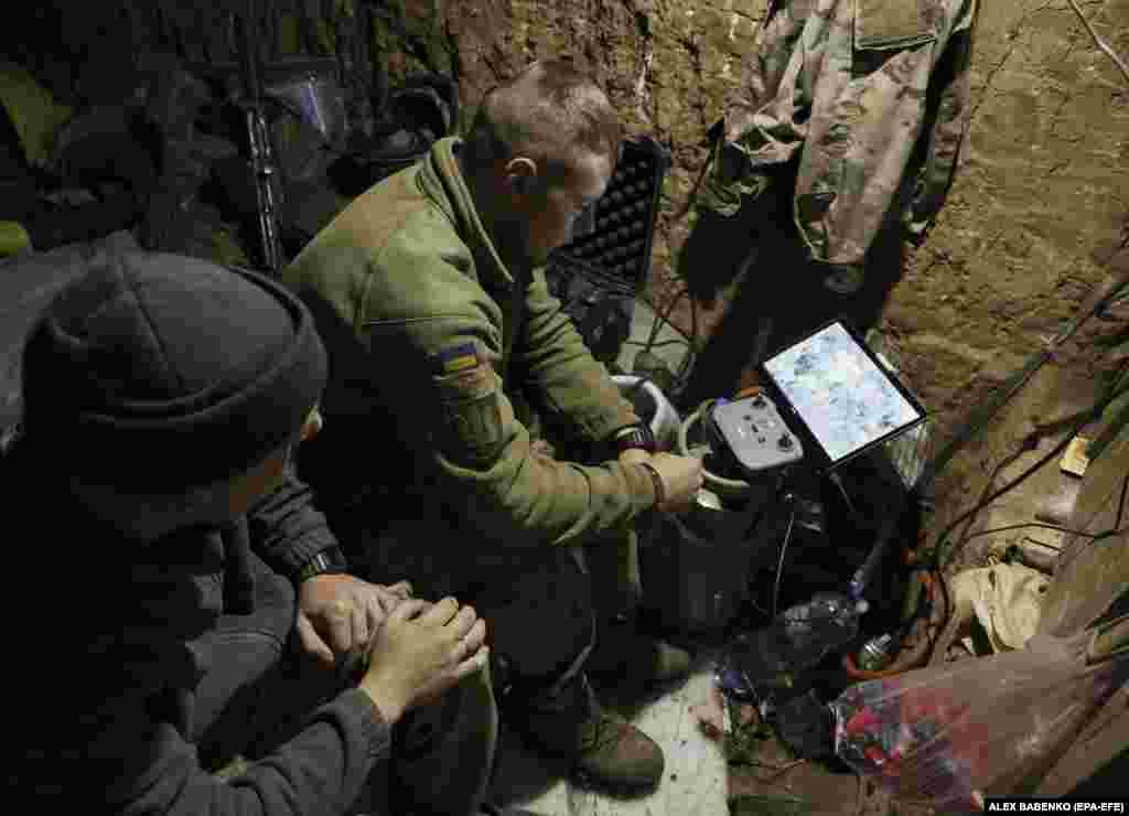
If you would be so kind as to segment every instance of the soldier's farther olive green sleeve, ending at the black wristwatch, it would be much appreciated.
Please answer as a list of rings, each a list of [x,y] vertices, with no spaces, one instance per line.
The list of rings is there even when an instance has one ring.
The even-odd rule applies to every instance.
[[[535,270],[526,289],[525,322],[514,348],[514,362],[553,413],[590,442],[638,422],[631,403],[597,361],[560,300],[549,293],[545,275]]]

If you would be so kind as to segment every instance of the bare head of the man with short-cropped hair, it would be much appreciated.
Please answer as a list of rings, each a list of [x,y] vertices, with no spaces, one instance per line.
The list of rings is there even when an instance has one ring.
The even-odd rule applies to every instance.
[[[622,138],[607,96],[564,60],[534,62],[485,95],[460,163],[504,257],[541,265],[592,229]]]

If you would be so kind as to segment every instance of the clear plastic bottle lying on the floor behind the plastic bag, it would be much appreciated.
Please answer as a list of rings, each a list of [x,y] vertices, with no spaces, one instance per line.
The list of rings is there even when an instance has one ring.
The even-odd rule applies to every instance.
[[[819,593],[785,609],[764,629],[737,635],[718,664],[718,683],[738,697],[789,687],[797,675],[854,640],[866,611],[865,600]]]

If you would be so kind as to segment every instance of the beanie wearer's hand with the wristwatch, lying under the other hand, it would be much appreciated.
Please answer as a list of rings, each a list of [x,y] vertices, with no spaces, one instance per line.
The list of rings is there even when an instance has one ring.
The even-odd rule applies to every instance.
[[[408,581],[384,587],[353,576],[314,576],[298,587],[298,640],[332,667],[340,656],[366,651],[385,618],[411,596]]]

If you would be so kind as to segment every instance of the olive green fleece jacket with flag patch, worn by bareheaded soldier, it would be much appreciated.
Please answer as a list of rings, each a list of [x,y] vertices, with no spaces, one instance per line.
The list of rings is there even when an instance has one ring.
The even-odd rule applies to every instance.
[[[336,462],[359,457],[361,481],[382,482],[385,495],[427,494],[487,542],[581,543],[654,506],[649,474],[532,454],[515,402],[588,441],[638,418],[542,271],[501,262],[460,172],[460,144],[440,140],[371,187],[285,272],[330,350],[323,437],[352,418],[340,423],[351,431],[336,439]]]

